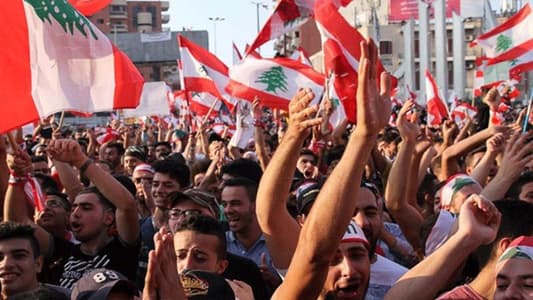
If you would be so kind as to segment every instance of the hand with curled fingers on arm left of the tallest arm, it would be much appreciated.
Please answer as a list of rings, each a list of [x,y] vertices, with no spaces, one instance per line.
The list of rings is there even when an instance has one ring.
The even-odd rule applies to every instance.
[[[313,126],[320,125],[322,118],[315,117],[318,110],[316,105],[309,107],[315,95],[310,89],[300,89],[289,103],[288,133],[297,136],[307,136]]]

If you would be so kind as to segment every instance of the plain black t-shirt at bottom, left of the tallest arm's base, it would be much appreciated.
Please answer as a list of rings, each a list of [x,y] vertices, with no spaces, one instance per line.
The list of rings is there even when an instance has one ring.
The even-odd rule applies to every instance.
[[[256,300],[270,299],[271,295],[267,292],[261,271],[253,260],[229,252],[226,254],[226,259],[228,260],[228,267],[222,273],[224,278],[237,279],[247,283],[252,287]]]

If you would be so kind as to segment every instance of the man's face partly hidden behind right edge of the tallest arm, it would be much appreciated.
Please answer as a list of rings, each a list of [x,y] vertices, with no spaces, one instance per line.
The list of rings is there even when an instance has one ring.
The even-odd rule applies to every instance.
[[[370,243],[370,254],[374,255],[376,243],[381,233],[383,219],[377,204],[376,196],[367,188],[361,187],[357,195],[357,205],[354,212],[354,221],[363,229]]]

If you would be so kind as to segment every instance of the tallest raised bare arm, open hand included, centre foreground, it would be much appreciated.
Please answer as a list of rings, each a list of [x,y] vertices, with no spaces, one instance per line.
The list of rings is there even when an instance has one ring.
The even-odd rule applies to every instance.
[[[357,127],[339,164],[316,198],[300,232],[285,281],[273,299],[316,299],[321,292],[331,259],[353,216],[356,206],[353,195],[359,192],[358,183],[372,145],[390,118],[388,74],[381,74],[380,90],[376,84],[377,47],[372,42],[362,42],[361,50]]]

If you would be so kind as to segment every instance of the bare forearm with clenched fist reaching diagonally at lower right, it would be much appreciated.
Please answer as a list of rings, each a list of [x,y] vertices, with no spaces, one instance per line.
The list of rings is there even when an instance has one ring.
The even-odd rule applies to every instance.
[[[435,299],[468,255],[494,240],[500,218],[494,204],[478,195],[471,196],[461,207],[458,231],[405,273],[385,299]]]

